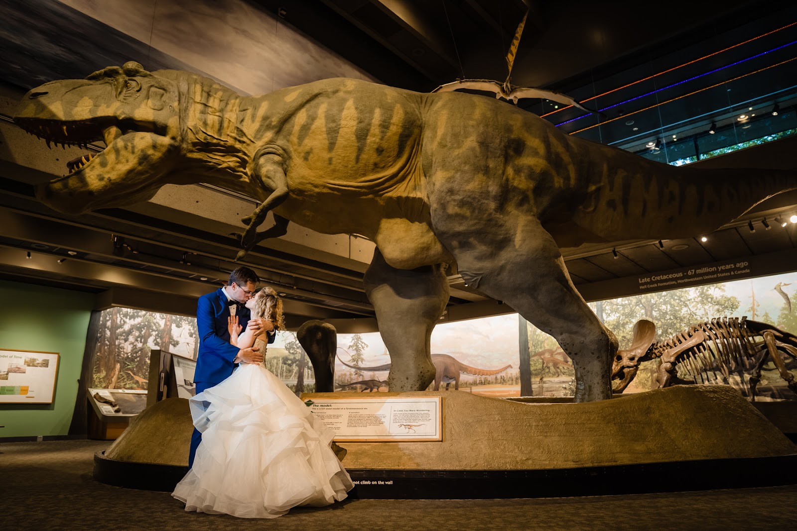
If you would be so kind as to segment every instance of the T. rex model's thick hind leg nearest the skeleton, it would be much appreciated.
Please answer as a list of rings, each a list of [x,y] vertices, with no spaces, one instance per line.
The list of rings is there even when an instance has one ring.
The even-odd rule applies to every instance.
[[[576,401],[610,398],[617,339],[576,291],[552,236],[532,215],[464,210],[433,209],[432,220],[465,282],[556,338],[573,361]]]

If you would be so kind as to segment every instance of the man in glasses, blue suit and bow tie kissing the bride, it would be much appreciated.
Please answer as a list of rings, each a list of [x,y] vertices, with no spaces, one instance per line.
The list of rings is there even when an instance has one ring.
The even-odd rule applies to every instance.
[[[250,318],[249,308],[244,306],[246,301],[254,296],[257,281],[257,275],[249,267],[237,267],[230,273],[230,283],[199,298],[197,303],[199,351],[194,371],[197,394],[229,377],[237,363],[263,361],[263,354],[257,351],[257,347],[238,349],[237,346],[230,344],[230,331],[227,329],[230,316],[238,317],[238,324],[244,329],[251,320],[254,334],[267,332],[268,342],[274,341],[273,324],[268,319]],[[189,468],[194,464],[194,455],[201,441],[202,433],[194,428],[188,454]]]

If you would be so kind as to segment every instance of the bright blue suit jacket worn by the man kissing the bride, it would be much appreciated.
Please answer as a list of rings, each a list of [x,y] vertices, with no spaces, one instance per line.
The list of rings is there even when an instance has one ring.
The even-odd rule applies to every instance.
[[[249,308],[241,305],[236,311],[238,324],[246,329],[249,322]],[[216,385],[229,377],[235,369],[233,360],[238,355],[237,346],[230,345],[230,332],[227,331],[227,318],[230,307],[222,288],[202,295],[197,303],[197,328],[199,330],[199,351],[194,381],[206,382],[206,387]],[[269,343],[274,336],[269,334]]]

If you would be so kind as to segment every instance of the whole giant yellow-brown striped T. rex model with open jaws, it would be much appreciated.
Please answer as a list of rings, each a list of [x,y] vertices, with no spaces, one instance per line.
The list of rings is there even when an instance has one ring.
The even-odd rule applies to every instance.
[[[190,72],[135,62],[33,88],[14,120],[49,143],[108,147],[37,188],[53,209],[130,205],[209,182],[262,201],[245,250],[288,220],[376,244],[366,293],[395,362],[391,389],[434,379],[430,334],[445,267],[551,334],[575,366],[575,400],[611,396],[617,340],[576,291],[559,246],[711,232],[794,172],[700,170],[564,135],[530,112],[463,94],[320,80],[240,96]],[[257,232],[273,211],[276,225]]]

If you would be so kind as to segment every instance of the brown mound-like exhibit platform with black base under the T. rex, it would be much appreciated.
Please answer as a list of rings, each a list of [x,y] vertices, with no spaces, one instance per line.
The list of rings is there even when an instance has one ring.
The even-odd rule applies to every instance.
[[[676,386],[589,404],[452,391],[379,395],[442,396],[442,440],[339,443],[356,485],[352,498],[633,494],[778,486],[797,477],[797,447],[723,386]],[[147,408],[108,451],[97,452],[94,477],[171,491],[187,471],[185,402]],[[183,437],[182,448],[182,440],[170,444]]]

